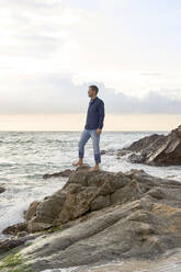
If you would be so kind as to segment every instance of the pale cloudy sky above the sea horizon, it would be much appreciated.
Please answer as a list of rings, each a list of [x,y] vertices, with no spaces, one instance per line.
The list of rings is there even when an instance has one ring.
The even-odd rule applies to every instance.
[[[81,129],[89,84],[114,127],[132,114],[179,125],[180,30],[180,0],[1,0],[0,129],[19,116],[82,114]]]

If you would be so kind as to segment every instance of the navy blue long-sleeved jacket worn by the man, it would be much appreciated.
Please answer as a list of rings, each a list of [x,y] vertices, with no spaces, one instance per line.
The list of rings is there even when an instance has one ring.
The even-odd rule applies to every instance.
[[[91,99],[88,106],[87,120],[84,128],[87,129],[97,129],[103,127],[105,112],[104,112],[104,102],[95,97]]]

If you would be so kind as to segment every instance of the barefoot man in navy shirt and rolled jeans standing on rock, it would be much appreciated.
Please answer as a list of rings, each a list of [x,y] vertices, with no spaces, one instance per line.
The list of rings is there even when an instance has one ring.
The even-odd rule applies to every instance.
[[[89,102],[89,107],[87,112],[87,120],[84,125],[84,131],[81,134],[79,140],[79,161],[72,162],[72,166],[83,166],[84,156],[84,145],[88,139],[92,138],[93,154],[95,166],[90,168],[88,171],[100,170],[99,163],[101,162],[101,151],[100,151],[100,135],[102,133],[103,121],[105,116],[104,102],[97,97],[99,89],[97,86],[89,86],[88,95],[91,98]]]

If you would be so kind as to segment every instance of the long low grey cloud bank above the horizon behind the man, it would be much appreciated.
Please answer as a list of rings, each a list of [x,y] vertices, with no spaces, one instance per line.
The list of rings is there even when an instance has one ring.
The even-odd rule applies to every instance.
[[[84,113],[90,98],[88,86],[95,83],[100,91],[99,95],[105,104],[106,113],[168,113],[181,114],[181,100],[167,98],[155,91],[149,91],[143,99],[115,92],[103,82],[89,81],[76,86],[71,75],[39,73],[24,75],[10,79],[18,87],[16,91],[9,95],[1,90],[0,114],[8,113]],[[8,87],[7,87],[8,88]],[[177,90],[177,91],[181,91]]]

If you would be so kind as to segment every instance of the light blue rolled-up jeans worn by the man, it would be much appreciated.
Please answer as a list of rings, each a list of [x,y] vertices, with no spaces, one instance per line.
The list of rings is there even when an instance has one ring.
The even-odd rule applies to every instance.
[[[89,138],[92,138],[93,145],[93,154],[95,163],[101,162],[101,151],[100,151],[100,134],[97,133],[97,129],[86,129],[81,133],[81,137],[79,140],[79,158],[83,158],[84,156],[84,145],[87,144]]]

